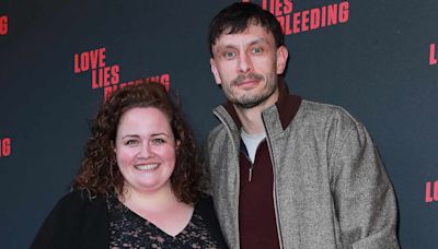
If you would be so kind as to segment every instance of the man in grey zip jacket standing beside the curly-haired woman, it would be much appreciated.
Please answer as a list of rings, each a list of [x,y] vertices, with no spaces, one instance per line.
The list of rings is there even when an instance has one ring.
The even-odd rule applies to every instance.
[[[228,103],[214,111],[207,162],[230,248],[399,248],[394,192],[369,134],[341,107],[289,95],[275,16],[231,4],[209,42]]]

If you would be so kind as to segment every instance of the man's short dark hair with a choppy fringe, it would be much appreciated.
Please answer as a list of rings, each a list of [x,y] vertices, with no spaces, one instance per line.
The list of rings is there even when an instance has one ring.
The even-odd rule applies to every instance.
[[[270,32],[277,48],[285,45],[281,26],[269,11],[251,2],[235,2],[221,10],[210,23],[208,42],[211,57],[211,47],[220,35],[243,33],[250,25],[260,25]]]

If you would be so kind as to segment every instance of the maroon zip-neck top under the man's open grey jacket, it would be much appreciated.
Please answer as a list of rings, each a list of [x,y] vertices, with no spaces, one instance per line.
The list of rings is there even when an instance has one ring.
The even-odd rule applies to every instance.
[[[243,141],[240,153],[239,232],[240,246],[279,248],[274,211],[274,175],[266,140],[263,140],[251,164]],[[253,167],[251,181],[250,167]]]

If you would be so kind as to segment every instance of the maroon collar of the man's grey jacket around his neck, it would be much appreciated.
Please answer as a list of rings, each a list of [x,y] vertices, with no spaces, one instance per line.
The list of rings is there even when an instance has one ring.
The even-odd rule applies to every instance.
[[[301,97],[297,95],[291,95],[289,94],[289,90],[286,85],[286,83],[281,80],[278,82],[278,90],[279,90],[279,96],[278,100],[275,103],[274,106],[270,106],[263,110],[262,116],[263,118],[265,117],[270,117],[270,116],[278,116],[279,118],[279,123],[278,126],[281,128],[281,130],[285,130],[289,123],[292,121],[293,117],[296,116],[300,105],[301,105]],[[235,129],[240,130],[242,127],[242,123],[239,119],[238,114],[235,112],[235,108],[231,102],[226,102],[218,108],[216,108],[215,114],[219,115],[224,115],[228,114],[232,121],[235,123]],[[227,118],[226,118],[227,119]],[[224,120],[227,121],[227,120]],[[231,121],[231,120],[230,120]],[[230,123],[228,123],[230,126]],[[265,126],[270,126],[270,123],[266,123]],[[275,126],[275,123],[274,123]]]

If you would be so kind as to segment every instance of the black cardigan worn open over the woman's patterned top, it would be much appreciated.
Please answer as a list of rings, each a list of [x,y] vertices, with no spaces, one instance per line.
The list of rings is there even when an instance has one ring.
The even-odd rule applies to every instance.
[[[211,198],[196,203],[214,237],[226,248]],[[108,248],[108,214],[106,199],[89,199],[87,192],[73,191],[65,195],[39,228],[31,249]]]

